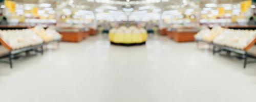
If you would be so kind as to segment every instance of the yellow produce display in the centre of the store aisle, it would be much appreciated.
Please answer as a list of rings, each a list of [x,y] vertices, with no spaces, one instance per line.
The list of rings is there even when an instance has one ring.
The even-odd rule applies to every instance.
[[[135,26],[113,28],[110,30],[109,39],[114,43],[134,44],[144,43],[147,39],[147,32],[143,28]]]

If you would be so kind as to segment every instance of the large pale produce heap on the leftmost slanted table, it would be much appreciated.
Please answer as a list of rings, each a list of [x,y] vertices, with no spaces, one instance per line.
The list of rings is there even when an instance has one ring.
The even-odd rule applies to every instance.
[[[24,48],[43,43],[32,29],[0,31],[0,37],[12,49]]]

